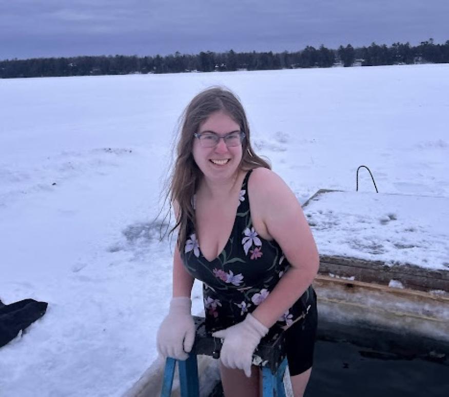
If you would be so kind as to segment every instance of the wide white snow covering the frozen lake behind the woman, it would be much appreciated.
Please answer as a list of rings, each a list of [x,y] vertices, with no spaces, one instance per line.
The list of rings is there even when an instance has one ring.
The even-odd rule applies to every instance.
[[[301,203],[320,188],[354,191],[361,164],[382,193],[449,197],[448,74],[416,65],[0,80],[0,299],[49,303],[0,349],[0,395],[119,396],[157,358],[172,244],[153,220],[173,131],[199,90],[240,95],[255,148]],[[374,191],[367,173],[359,186]],[[200,312],[198,284],[192,296]]]

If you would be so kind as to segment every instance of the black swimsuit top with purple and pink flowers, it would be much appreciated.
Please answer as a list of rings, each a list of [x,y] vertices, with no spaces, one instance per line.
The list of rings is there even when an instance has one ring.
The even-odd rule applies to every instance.
[[[223,251],[213,261],[201,253],[192,223],[181,257],[187,271],[203,282],[206,325],[226,328],[244,320],[275,288],[290,264],[276,241],[262,239],[254,230],[248,200],[249,171],[240,191],[231,235]],[[304,319],[315,294],[310,286],[278,320],[277,326],[290,326]]]

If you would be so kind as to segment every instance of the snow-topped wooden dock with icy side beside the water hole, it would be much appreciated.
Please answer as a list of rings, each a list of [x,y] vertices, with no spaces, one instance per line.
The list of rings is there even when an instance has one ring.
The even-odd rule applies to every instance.
[[[439,229],[435,231],[430,222],[424,225],[425,222],[420,221],[421,217],[428,219],[429,211],[436,210],[442,213],[433,216],[441,222],[447,221],[449,241],[449,215],[442,203],[442,200],[447,201],[449,209],[449,199],[436,199],[438,205],[429,207],[432,197],[424,198],[427,206],[422,207],[422,214],[416,212],[416,208],[420,208],[419,196],[404,199],[399,195],[320,190],[304,204],[320,251],[320,269],[314,286],[318,295],[321,338],[346,339],[382,350],[414,349],[416,354],[434,351],[433,354],[449,355],[449,251],[441,256],[430,252],[434,247],[421,244],[433,235],[444,244],[441,225],[436,225]],[[405,216],[407,210],[400,208],[407,200],[414,206],[409,223]],[[360,201],[363,201],[362,206]],[[346,222],[349,212],[354,218]],[[404,237],[392,227],[385,228],[383,222],[388,222],[387,215],[392,224],[400,219],[400,228],[395,226],[398,230],[415,231],[420,222],[424,226]],[[354,226],[352,223],[357,221],[360,225]],[[344,243],[337,242],[333,246],[333,236]],[[368,240],[366,244],[364,236]],[[395,250],[400,244],[405,248]],[[320,249],[320,246],[325,248]],[[404,249],[409,249],[412,252],[409,256],[419,264],[404,261],[407,257]],[[394,256],[396,251],[402,255],[400,260]],[[443,260],[423,266],[426,258],[432,255]],[[424,260],[420,262],[420,258]]]

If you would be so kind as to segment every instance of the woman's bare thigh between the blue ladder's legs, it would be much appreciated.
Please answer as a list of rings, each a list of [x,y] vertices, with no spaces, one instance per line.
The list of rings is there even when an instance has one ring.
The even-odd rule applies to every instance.
[[[259,367],[251,366],[251,378],[241,369],[226,368],[220,361],[221,383],[225,397],[259,397]]]

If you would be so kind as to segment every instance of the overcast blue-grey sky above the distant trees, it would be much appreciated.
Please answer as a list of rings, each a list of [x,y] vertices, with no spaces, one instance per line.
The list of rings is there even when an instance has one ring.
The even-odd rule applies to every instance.
[[[449,0],[0,0],[0,59],[449,39]]]

